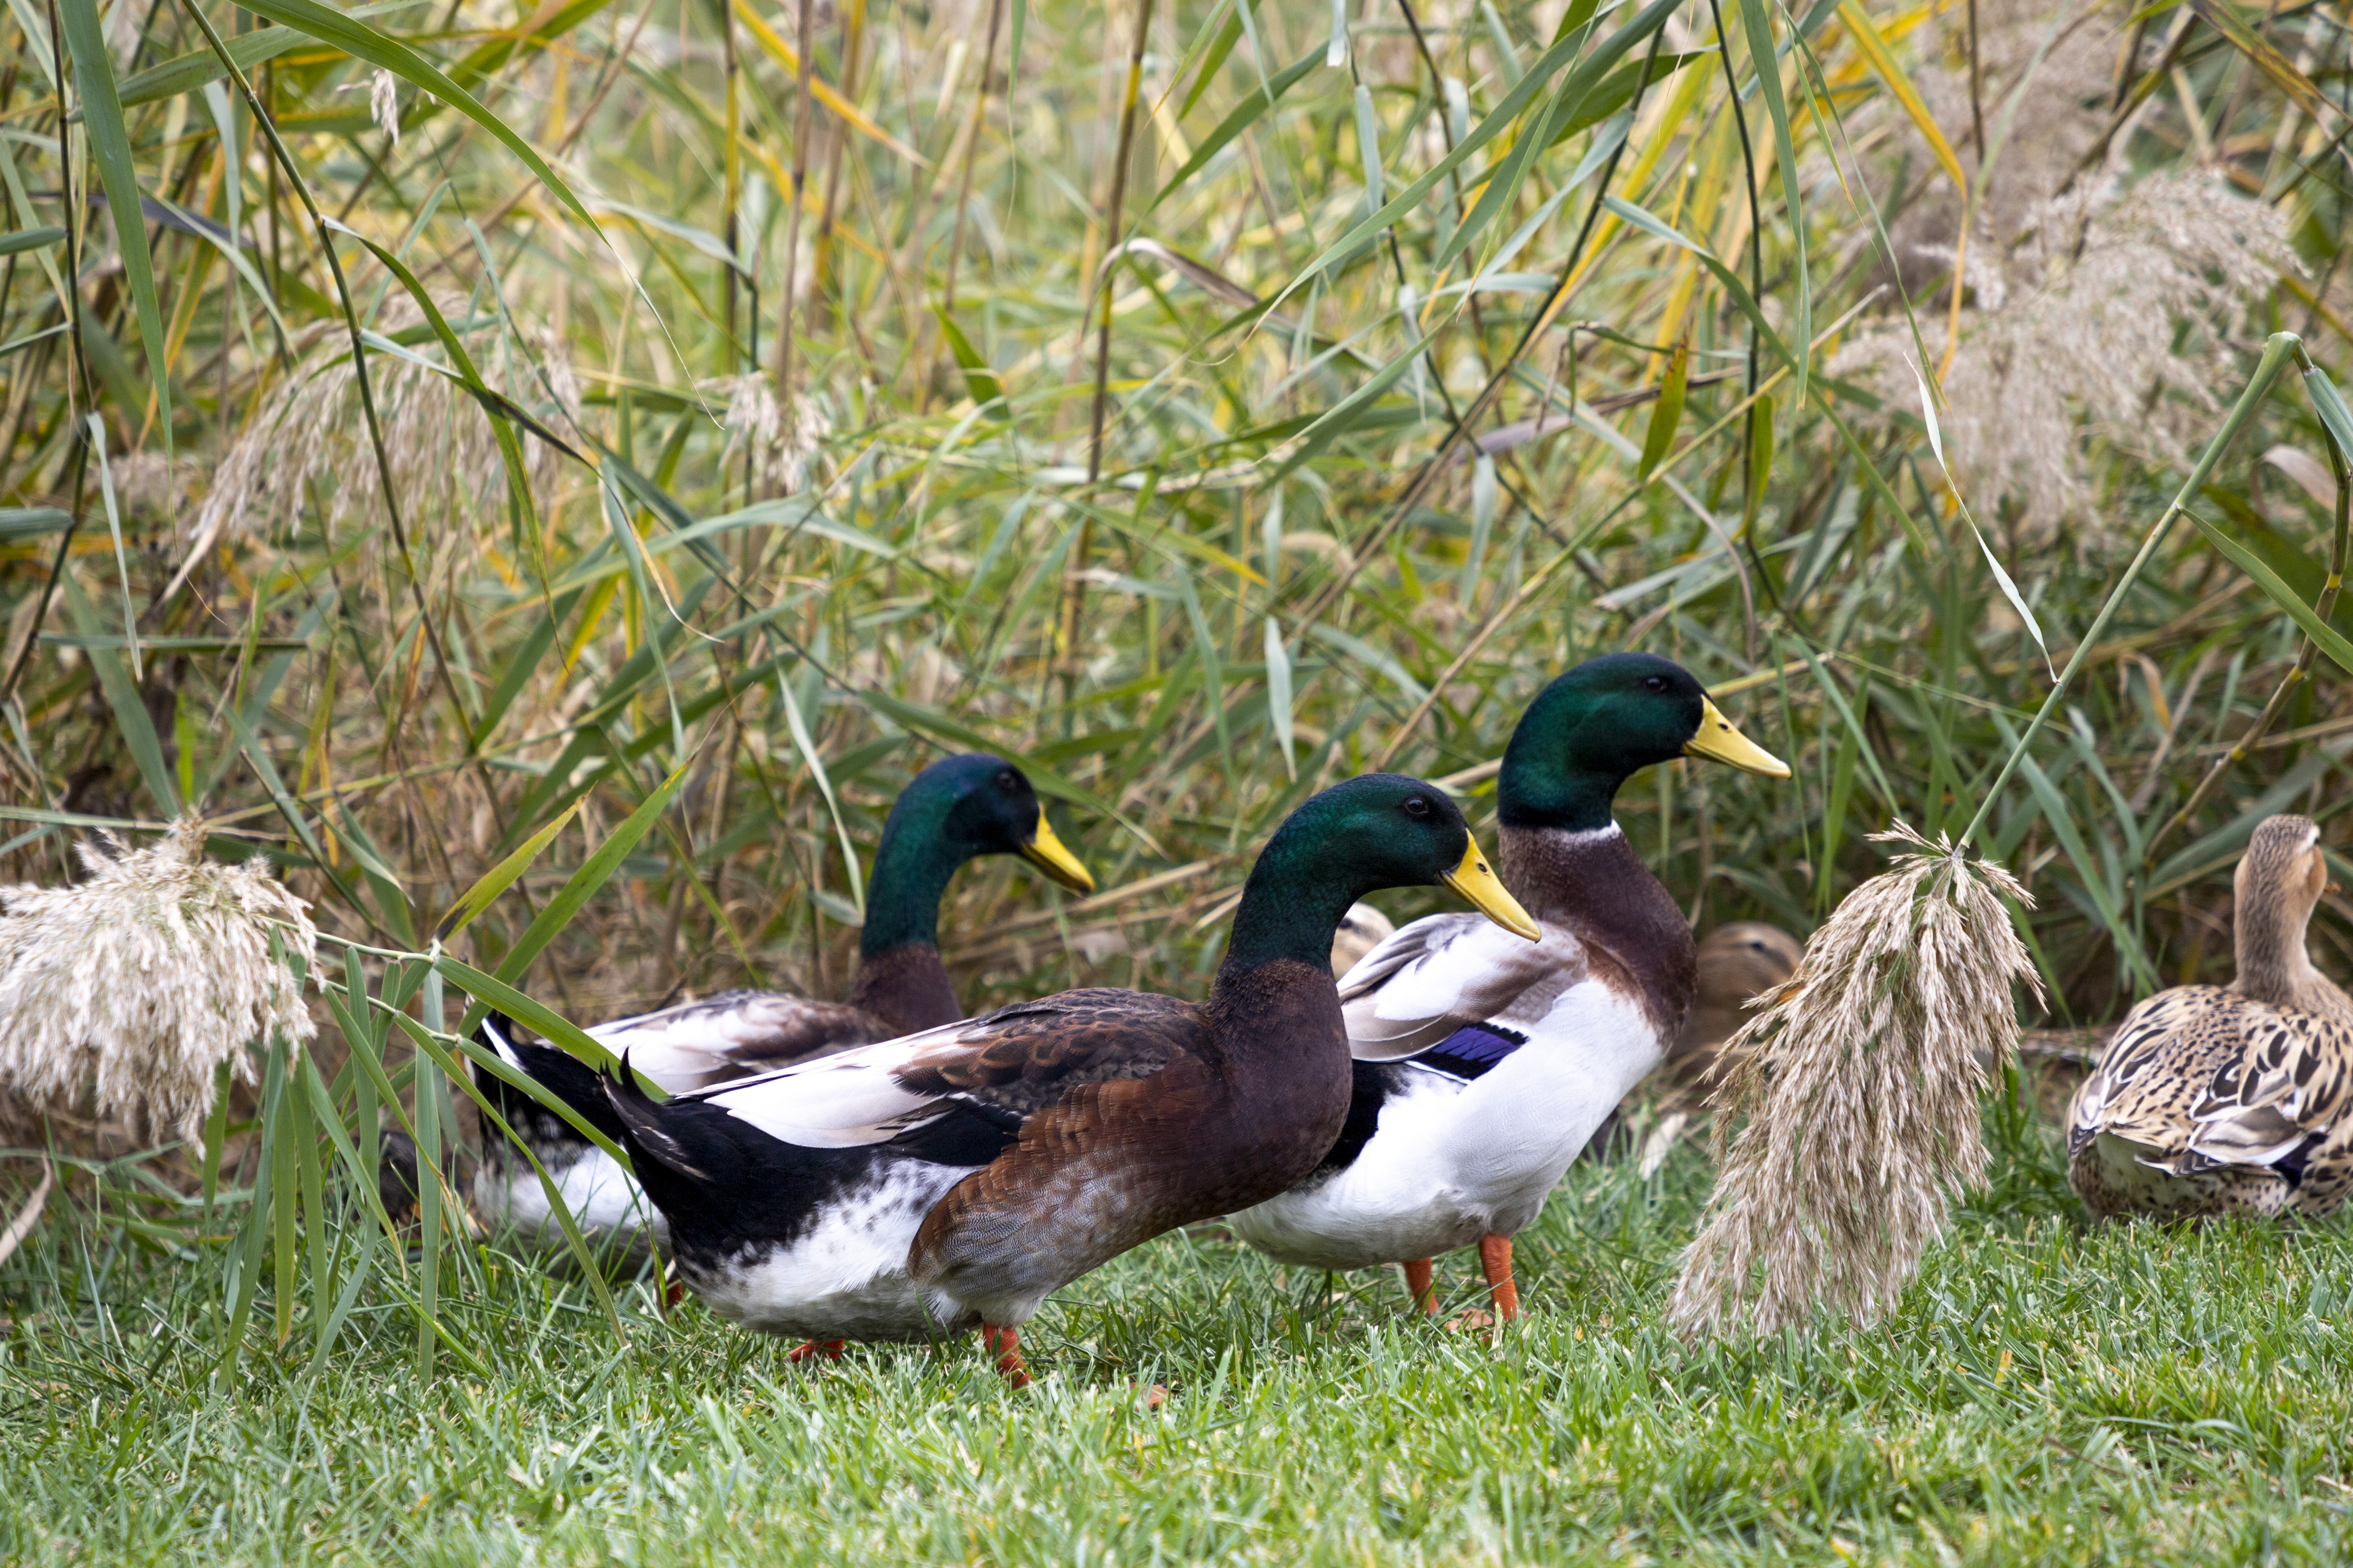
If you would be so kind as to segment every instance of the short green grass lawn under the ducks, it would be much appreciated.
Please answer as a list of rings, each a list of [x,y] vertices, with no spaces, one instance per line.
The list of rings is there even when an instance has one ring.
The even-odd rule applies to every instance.
[[[969,1342],[786,1366],[642,1288],[621,1349],[584,1288],[492,1258],[452,1312],[489,1378],[419,1380],[381,1309],[320,1375],[256,1352],[209,1396],[216,1274],[52,1225],[0,1269],[0,1561],[2353,1554],[2344,1227],[2085,1229],[2047,1140],[2007,1135],[1894,1321],[1687,1354],[1657,1316],[1706,1182],[1689,1143],[1652,1180],[1577,1166],[1501,1345],[1393,1274],[1165,1237],[1040,1314],[1021,1394]],[[1440,1284],[1468,1302],[1471,1255]]]

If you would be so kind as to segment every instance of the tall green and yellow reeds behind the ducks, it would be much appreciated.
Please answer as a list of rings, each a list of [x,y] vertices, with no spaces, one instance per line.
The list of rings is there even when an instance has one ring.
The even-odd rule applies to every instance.
[[[2052,522],[1955,449],[1962,512],[1918,402],[1840,357],[1918,329],[1941,371],[1948,315],[1962,353],[1991,331],[1951,237],[2024,230],[1981,148],[2068,115],[2106,127],[2087,188],[2205,172],[2285,235],[2172,322],[2169,378],[2118,350],[2148,433],[2217,428],[2275,329],[2318,378],[2188,498],[1981,846],[2038,896],[2059,1020],[2226,973],[2252,823],[2353,802],[2344,670],[2282,609],[2353,630],[2315,414],[2346,21],[2005,21],[2092,28],[2113,80],[1986,68],[1974,7],[1828,0],[12,0],[0,856],[56,882],[78,830],[200,806],[315,900],[339,1025],[202,1152],[9,1121],[87,1157],[12,1309],[104,1316],[104,1284],[54,1295],[101,1234],[205,1262],[212,1305],[169,1321],[224,1382],[386,1333],[416,1375],[489,1375],[452,1324],[515,1286],[454,1194],[421,1237],[339,1197],[379,1114],[428,1150],[466,1126],[459,992],[586,1023],[838,990],[859,856],[941,750],[1016,757],[1104,886],[967,872],[967,1004],[1200,992],[1306,792],[1398,766],[1482,825],[1522,703],[1652,649],[1795,778],[1657,769],[1621,823],[1697,924],[1802,933],[1875,870],[1864,835],[1967,823],[2049,693],[1988,562],[2068,658],[2198,449],[2085,411],[2049,437],[2085,503]],[[1944,223],[1941,270],[1908,223]]]

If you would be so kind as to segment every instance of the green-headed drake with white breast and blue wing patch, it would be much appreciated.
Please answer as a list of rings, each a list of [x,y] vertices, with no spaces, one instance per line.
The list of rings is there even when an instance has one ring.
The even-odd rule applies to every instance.
[[[1692,929],[1609,820],[1619,785],[1673,757],[1788,778],[1666,658],[1591,658],[1537,696],[1504,750],[1497,865],[1544,940],[1431,914],[1365,954],[1341,983],[1348,1121],[1304,1182],[1228,1218],[1238,1237],[1320,1269],[1402,1262],[1433,1312],[1431,1255],[1478,1244],[1518,1314],[1511,1237],[1692,1004]]]

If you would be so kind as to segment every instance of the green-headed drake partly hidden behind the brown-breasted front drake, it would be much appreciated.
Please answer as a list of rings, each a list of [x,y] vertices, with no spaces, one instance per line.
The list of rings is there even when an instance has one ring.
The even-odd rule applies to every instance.
[[[859,931],[859,973],[847,1001],[739,990],[621,1018],[588,1034],[614,1053],[628,1051],[638,1072],[682,1093],[955,1023],[965,1009],[939,957],[939,900],[965,860],[998,853],[1021,856],[1078,893],[1094,891],[1087,867],[1047,825],[1021,769],[984,755],[934,762],[915,773],[882,823],[866,926]],[[600,1133],[621,1138],[595,1074],[576,1058],[515,1039],[504,1018],[485,1023],[482,1041]],[[652,1225],[654,1239],[661,1239],[661,1218],[647,1211],[612,1154],[504,1079],[482,1074],[482,1091],[539,1157],[584,1234],[638,1248],[638,1232]],[[482,1220],[513,1227],[527,1244],[562,1246],[546,1190],[506,1140],[487,1140],[473,1201]]]

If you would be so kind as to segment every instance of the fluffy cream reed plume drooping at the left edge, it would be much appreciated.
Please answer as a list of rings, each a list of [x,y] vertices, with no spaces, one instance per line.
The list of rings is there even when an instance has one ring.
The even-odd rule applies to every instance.
[[[205,860],[195,816],[113,849],[85,844],[75,886],[0,889],[0,1088],[68,1110],[94,1086],[101,1117],[195,1138],[224,1060],[252,1077],[245,1044],[315,1032],[271,936],[311,964],[318,933],[264,860]]]

